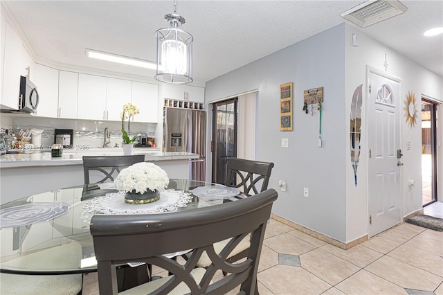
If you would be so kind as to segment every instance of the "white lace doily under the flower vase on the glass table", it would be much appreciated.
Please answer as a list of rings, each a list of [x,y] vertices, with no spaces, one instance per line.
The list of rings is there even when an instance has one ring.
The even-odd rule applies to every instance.
[[[90,222],[95,214],[129,215],[172,212],[188,206],[191,199],[191,193],[168,189],[160,191],[159,201],[134,205],[125,203],[123,192],[107,193],[105,196],[89,199],[83,206],[81,217],[84,222]]]

